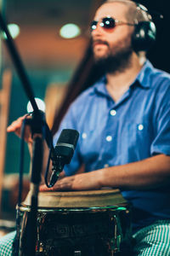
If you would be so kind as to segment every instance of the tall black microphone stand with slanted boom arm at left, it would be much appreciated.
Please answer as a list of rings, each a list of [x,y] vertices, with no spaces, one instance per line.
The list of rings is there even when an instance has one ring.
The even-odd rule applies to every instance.
[[[26,75],[26,71],[24,65],[20,59],[20,55],[18,54],[16,47],[14,45],[13,38],[8,32],[8,27],[3,20],[3,15],[0,12],[0,28],[3,32],[5,32],[7,39],[5,39],[6,46],[14,62],[14,67],[19,75],[21,80],[21,84],[26,91],[26,96],[28,96],[31,106],[33,108],[32,119],[26,119],[27,125],[31,125],[31,132],[33,137],[33,157],[32,157],[32,168],[31,168],[31,212],[30,217],[28,219],[28,236],[26,239],[26,251],[24,254],[20,251],[20,241],[18,241],[18,247],[15,252],[16,255],[26,255],[26,256],[35,256],[36,255],[36,243],[37,243],[37,198],[38,198],[38,190],[39,184],[41,182],[41,172],[42,172],[42,141],[43,134],[46,134],[46,141],[48,146],[51,146],[53,143],[51,141],[52,137],[49,134],[48,125],[45,123],[45,118],[42,112],[37,108],[37,103],[34,99],[33,91],[31,90],[30,81]],[[45,132],[44,132],[45,131]],[[19,211],[20,211],[20,203],[19,203]],[[17,244],[17,243],[16,243]],[[20,254],[21,253],[21,254]]]

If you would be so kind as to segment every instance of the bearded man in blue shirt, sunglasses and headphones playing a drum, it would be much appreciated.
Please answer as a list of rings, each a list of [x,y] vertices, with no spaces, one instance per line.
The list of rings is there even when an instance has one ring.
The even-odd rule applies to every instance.
[[[93,50],[105,77],[71,104],[54,137],[55,143],[64,128],[81,135],[65,166],[69,177],[52,190],[121,189],[133,205],[134,255],[170,255],[170,76],[134,49],[134,29],[143,20],[150,20],[148,12],[126,0],[97,10]],[[20,135],[21,122],[8,131]],[[73,175],[82,165],[85,172]]]

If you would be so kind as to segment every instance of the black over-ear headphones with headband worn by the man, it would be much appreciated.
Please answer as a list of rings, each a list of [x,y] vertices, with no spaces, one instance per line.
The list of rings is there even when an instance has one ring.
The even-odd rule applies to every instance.
[[[136,4],[137,11],[140,10],[141,12],[144,12],[148,16],[148,20],[136,22],[133,36],[132,36],[133,50],[136,52],[148,51],[148,49],[150,49],[150,47],[156,41],[156,25],[152,21],[152,17],[148,9],[146,9],[144,5],[140,3],[135,3],[135,4]],[[157,13],[155,14],[159,15]],[[162,18],[162,15],[159,15],[159,16],[160,18]]]

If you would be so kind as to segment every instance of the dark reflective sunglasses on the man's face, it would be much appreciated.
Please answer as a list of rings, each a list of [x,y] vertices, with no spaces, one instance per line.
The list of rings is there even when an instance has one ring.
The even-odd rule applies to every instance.
[[[98,22],[99,22],[98,20],[93,20],[92,21],[91,26],[90,26],[92,32],[97,28]],[[135,24],[127,23],[127,22],[124,22],[124,21],[121,21],[121,20],[116,20],[116,19],[114,19],[113,17],[110,17],[110,16],[103,18],[99,22],[99,26],[101,26],[105,30],[110,30],[110,29],[112,29],[112,28],[114,28],[115,26],[118,26],[118,25],[134,26]]]

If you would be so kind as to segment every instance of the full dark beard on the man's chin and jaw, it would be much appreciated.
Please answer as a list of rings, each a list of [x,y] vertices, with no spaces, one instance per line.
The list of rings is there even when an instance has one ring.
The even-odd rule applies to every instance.
[[[120,73],[127,67],[131,66],[131,57],[133,49],[131,46],[126,48],[114,49],[114,53],[109,48],[109,53],[103,56],[94,55],[95,67],[102,70],[104,73]]]

